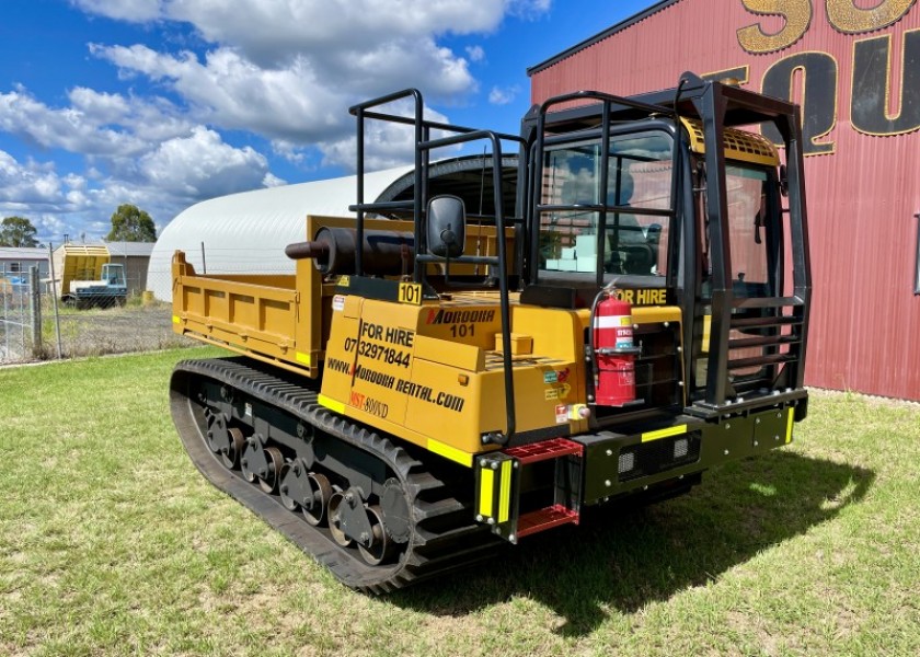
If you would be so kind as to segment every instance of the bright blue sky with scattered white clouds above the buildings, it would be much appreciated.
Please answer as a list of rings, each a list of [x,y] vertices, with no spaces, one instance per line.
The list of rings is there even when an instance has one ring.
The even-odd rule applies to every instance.
[[[3,0],[0,218],[94,241],[234,192],[347,175],[360,100],[517,132],[527,68],[654,0]],[[376,168],[411,161],[371,136]]]

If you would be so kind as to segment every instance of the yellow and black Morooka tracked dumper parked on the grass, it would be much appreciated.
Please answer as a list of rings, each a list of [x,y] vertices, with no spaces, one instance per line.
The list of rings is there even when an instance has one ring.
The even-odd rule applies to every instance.
[[[387,111],[405,99],[414,117]],[[551,99],[519,136],[423,105],[352,108],[356,217],[307,217],[294,275],[206,276],[176,252],[175,331],[237,354],[171,382],[211,483],[386,592],[791,441],[810,297],[797,107],[691,73]],[[411,198],[364,198],[371,122],[414,130]],[[430,192],[432,152],[470,142],[492,159],[488,216]]]

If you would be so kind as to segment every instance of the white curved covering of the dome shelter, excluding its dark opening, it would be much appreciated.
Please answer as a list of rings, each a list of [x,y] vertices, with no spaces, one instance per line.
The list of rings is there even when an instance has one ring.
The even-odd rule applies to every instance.
[[[377,198],[412,171],[400,166],[365,175],[365,198]],[[176,250],[199,273],[294,274],[285,246],[307,237],[307,216],[353,217],[357,181],[327,181],[242,192],[195,204],[180,212],[150,255],[148,289],[157,299],[172,300],[170,265]]]

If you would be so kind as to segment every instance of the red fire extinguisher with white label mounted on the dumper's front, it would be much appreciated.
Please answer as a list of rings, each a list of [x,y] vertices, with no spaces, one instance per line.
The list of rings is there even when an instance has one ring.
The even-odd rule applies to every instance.
[[[595,403],[622,406],[635,401],[635,354],[632,307],[616,292],[602,290],[595,304],[593,347],[596,362]]]

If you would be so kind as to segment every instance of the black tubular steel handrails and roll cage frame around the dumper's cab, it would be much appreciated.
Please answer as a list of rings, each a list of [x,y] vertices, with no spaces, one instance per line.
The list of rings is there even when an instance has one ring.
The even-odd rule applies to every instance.
[[[392,112],[382,112],[380,106],[411,99],[413,115],[404,116]],[[560,108],[560,106],[564,106]],[[551,112],[551,110],[554,110]],[[794,324],[798,331],[798,338],[791,345],[792,357],[780,359],[779,356],[767,356],[764,362],[787,362],[792,368],[786,373],[785,391],[779,396],[771,391],[772,400],[782,403],[804,395],[804,364],[807,339],[808,313],[810,308],[810,263],[808,256],[808,232],[805,209],[803,143],[801,131],[800,110],[796,105],[772,99],[737,87],[729,87],[718,82],[705,81],[693,73],[683,73],[676,89],[623,97],[597,91],[579,91],[551,97],[539,106],[534,106],[521,122],[520,136],[480,130],[462,126],[442,124],[424,117],[424,101],[422,93],[415,89],[407,89],[354,105],[349,110],[357,123],[357,203],[349,209],[357,215],[356,242],[364,243],[364,222],[367,214],[384,214],[411,217],[414,223],[414,268],[412,280],[419,284],[427,298],[436,298],[434,289],[426,275],[426,265],[433,262],[444,262],[444,258],[428,252],[427,237],[424,229],[426,222],[426,205],[428,197],[428,170],[430,151],[447,146],[469,143],[485,140],[492,147],[493,192],[495,195],[495,227],[497,256],[460,256],[451,258],[456,263],[484,264],[492,268],[499,288],[499,307],[502,319],[502,344],[505,381],[505,405],[507,426],[504,433],[495,431],[483,436],[483,442],[505,445],[515,434],[515,394],[513,380],[513,362],[510,349],[510,309],[508,284],[508,254],[506,249],[505,229],[514,227],[517,256],[516,274],[520,275],[521,285],[533,285],[538,281],[537,267],[539,262],[539,224],[543,212],[559,210],[590,210],[599,212],[600,223],[598,241],[605,234],[607,215],[617,211],[635,211],[617,205],[574,204],[550,205],[542,204],[540,198],[542,168],[547,145],[557,143],[564,136],[571,138],[572,132],[587,129],[598,129],[601,137],[601,181],[600,188],[608,186],[608,160],[610,150],[610,132],[614,124],[639,122],[648,118],[669,120],[677,132],[674,140],[674,176],[670,211],[672,226],[680,224],[683,229],[681,240],[681,261],[685,266],[680,276],[686,286],[687,281],[695,281],[693,290],[680,289],[678,285],[678,302],[683,309],[685,321],[683,344],[692,345],[697,318],[702,316],[702,309],[698,308],[700,299],[699,277],[689,267],[695,263],[694,244],[690,228],[693,222],[685,221],[679,214],[686,208],[687,199],[678,200],[678,195],[685,187],[683,177],[688,175],[686,158],[681,150],[682,130],[677,129],[679,117],[688,116],[701,120],[703,126],[705,148],[706,177],[706,209],[711,230],[712,258],[712,306],[711,342],[708,358],[706,387],[703,400],[693,402],[686,411],[700,416],[722,415],[726,410],[743,410],[756,405],[752,399],[744,400],[731,388],[728,372],[729,362],[729,332],[733,327],[733,311],[739,308],[770,308],[779,314],[779,309],[789,309],[789,318],[783,318],[784,324]],[[366,173],[365,139],[366,122],[369,119],[383,120],[412,126],[415,145],[414,195],[412,200],[368,203],[365,199],[364,175]],[[736,299],[732,284],[732,254],[728,242],[728,212],[725,188],[725,143],[723,130],[731,126],[750,126],[761,123],[772,123],[783,138],[786,152],[786,180],[789,188],[789,230],[792,243],[793,293],[791,297],[771,297],[763,299]],[[447,136],[432,138],[432,131],[439,130]],[[516,217],[506,218],[502,204],[502,145],[514,143],[518,148],[518,191]],[[526,181],[526,184],[520,184]],[[691,203],[692,206],[692,203]],[[656,211],[656,214],[662,214]],[[603,250],[599,247],[598,260]],[[674,257],[674,256],[669,256]],[[597,287],[603,286],[603,267],[598,263]],[[669,270],[671,267],[669,267]],[[361,250],[356,251],[355,276],[364,275]],[[669,277],[672,276],[669,273]],[[672,280],[672,278],[671,278]],[[692,371],[691,349],[685,349],[685,372]],[[760,402],[759,404],[762,404]],[[803,412],[804,414],[804,412]],[[804,415],[803,415],[804,416]]]

